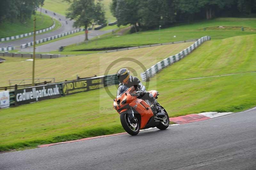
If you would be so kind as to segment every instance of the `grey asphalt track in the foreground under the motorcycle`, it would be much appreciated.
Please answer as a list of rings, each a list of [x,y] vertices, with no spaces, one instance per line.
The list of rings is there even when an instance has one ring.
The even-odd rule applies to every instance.
[[[256,108],[167,130],[0,154],[1,170],[255,170]]]

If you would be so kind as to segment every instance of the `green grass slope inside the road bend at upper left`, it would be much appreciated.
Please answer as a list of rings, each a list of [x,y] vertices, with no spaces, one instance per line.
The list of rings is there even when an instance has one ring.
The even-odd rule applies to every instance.
[[[36,30],[41,30],[44,28],[51,27],[53,25],[53,20],[48,15],[40,12],[37,12],[36,15],[32,15],[31,19],[28,19],[24,23],[20,23],[19,21],[11,22],[3,22],[0,23],[0,38],[25,34],[34,31],[34,17],[36,16]]]

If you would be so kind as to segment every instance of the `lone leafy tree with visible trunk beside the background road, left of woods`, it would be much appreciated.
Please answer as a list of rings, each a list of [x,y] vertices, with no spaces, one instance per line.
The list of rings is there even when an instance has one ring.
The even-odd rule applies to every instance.
[[[74,19],[74,27],[85,27],[85,41],[88,41],[88,27],[94,22],[105,23],[105,12],[98,1],[94,0],[65,0],[71,3],[66,13],[67,18]]]

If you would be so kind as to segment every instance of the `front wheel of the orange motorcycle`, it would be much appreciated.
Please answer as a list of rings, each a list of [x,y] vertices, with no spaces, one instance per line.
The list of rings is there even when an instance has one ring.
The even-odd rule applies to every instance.
[[[132,123],[127,113],[120,114],[120,121],[124,130],[130,135],[137,135],[140,132],[140,122]]]

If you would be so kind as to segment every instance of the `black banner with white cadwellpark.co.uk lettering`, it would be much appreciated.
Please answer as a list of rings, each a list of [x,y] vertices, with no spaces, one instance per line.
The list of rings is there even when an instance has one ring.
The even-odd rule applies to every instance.
[[[61,97],[60,84],[48,84],[15,90],[15,103],[26,104]]]

